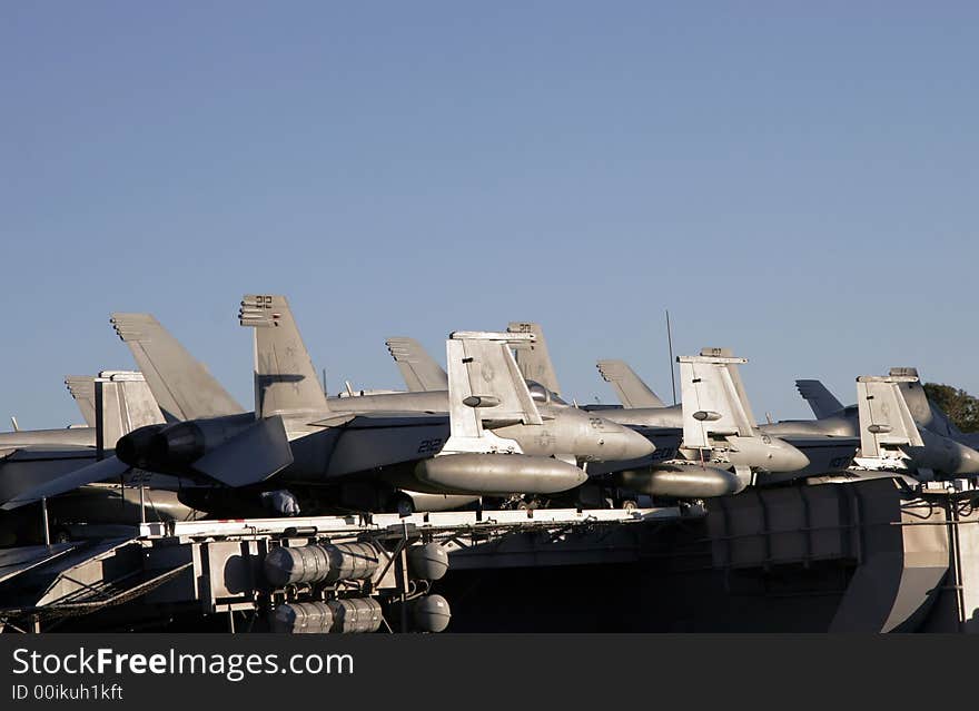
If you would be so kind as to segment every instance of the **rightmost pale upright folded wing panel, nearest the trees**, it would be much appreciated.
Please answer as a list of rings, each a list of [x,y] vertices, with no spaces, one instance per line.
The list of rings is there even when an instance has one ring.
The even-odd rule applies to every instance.
[[[857,378],[857,412],[860,418],[860,454],[882,456],[883,445],[922,447],[924,442],[899,385],[917,382],[913,376]]]

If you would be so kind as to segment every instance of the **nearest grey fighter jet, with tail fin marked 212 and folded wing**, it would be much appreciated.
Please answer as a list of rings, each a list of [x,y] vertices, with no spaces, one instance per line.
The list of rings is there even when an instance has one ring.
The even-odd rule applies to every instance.
[[[552,494],[581,484],[581,465],[653,451],[627,427],[536,403],[510,352],[514,340],[532,337],[453,334],[447,394],[327,399],[285,297],[246,296],[239,320],[255,329],[255,414],[144,427],[122,437],[117,457],[89,475],[136,466],[187,477],[206,486],[182,488],[182,500],[208,511],[229,492],[286,488],[293,502],[314,504],[326,491],[347,503],[366,492],[373,496],[366,503],[376,506],[378,496],[398,490],[441,497]],[[240,496],[228,501],[236,508],[241,503]]]

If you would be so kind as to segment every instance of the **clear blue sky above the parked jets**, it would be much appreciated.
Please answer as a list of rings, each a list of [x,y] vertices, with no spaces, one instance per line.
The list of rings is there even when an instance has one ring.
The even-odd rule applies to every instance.
[[[678,353],[979,392],[979,6],[3,2],[0,415],[79,416],[147,310],[251,403],[244,293],[289,296],[329,389],[453,329],[546,327],[669,397]]]

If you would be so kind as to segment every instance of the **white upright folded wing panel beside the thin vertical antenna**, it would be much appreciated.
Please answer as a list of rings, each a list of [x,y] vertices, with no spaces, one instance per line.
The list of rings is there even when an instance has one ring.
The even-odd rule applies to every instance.
[[[708,349],[723,350],[725,349]],[[683,444],[711,447],[711,435],[751,437],[754,419],[746,406],[736,366],[748,358],[730,355],[678,356],[683,408]]]

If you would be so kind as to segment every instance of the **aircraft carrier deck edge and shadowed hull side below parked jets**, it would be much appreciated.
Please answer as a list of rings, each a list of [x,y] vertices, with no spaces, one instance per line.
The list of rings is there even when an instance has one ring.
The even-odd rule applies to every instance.
[[[0,551],[6,632],[979,631],[979,491],[148,523]],[[451,619],[451,621],[449,621]]]

